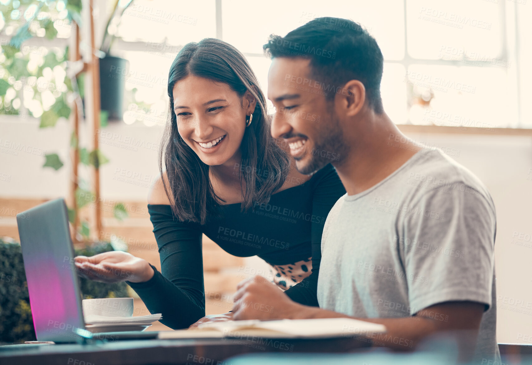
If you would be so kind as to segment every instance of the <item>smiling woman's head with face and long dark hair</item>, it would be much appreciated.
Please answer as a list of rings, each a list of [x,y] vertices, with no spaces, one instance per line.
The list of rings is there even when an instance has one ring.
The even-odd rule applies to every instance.
[[[235,166],[251,167],[242,172],[244,210],[254,201],[266,203],[283,185],[289,158],[271,138],[265,97],[236,48],[214,38],[185,45],[170,67],[168,96],[163,159],[177,217],[203,224],[207,215],[219,213],[223,199],[213,190],[210,175],[218,175],[218,180],[234,177]],[[253,122],[246,127],[250,118]],[[220,137],[218,147],[208,148]],[[258,175],[257,169],[270,173]],[[185,188],[192,184],[195,189]]]

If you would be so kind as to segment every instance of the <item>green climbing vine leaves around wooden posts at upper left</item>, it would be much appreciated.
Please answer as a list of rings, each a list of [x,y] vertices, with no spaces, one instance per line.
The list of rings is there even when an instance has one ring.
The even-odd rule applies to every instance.
[[[130,2],[127,2],[126,7]],[[118,1],[115,13],[117,6]],[[0,1],[0,11],[0,31],[3,30],[8,36],[13,35],[9,44],[1,45],[0,114],[26,117],[28,113],[31,117],[40,118],[40,128],[54,127],[60,119],[70,117],[72,100],[81,105],[84,74],[67,75],[68,47],[28,46],[24,42],[33,37],[52,40],[58,36],[70,36],[74,23],[80,24],[81,0],[4,0]],[[106,112],[102,112],[101,125],[105,126],[106,121]],[[101,151],[89,151],[79,146],[74,132],[70,145],[78,151],[79,161],[83,165],[99,168],[109,162]],[[64,165],[57,153],[48,153],[44,157],[44,168],[59,170]],[[88,184],[78,179],[76,183],[81,187],[77,189],[76,197],[89,196],[86,194]],[[69,220],[73,224],[78,214],[75,208],[87,204],[79,198],[77,203],[76,207],[69,209]],[[127,212],[121,209],[123,204],[119,204],[113,211],[115,218],[122,220],[127,217]],[[85,239],[89,236],[88,227],[86,221],[78,227],[78,233]]]

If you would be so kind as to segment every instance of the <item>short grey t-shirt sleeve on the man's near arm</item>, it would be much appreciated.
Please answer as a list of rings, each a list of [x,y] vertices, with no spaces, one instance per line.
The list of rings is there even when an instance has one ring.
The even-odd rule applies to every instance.
[[[448,301],[492,304],[495,208],[489,195],[455,186],[424,193],[398,225],[411,314]]]

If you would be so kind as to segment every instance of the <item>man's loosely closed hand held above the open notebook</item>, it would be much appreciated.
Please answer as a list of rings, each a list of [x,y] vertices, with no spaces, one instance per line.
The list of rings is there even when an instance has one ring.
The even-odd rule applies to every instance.
[[[262,276],[241,281],[234,296],[233,319],[294,318],[301,304],[290,300],[275,284]]]

